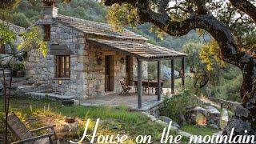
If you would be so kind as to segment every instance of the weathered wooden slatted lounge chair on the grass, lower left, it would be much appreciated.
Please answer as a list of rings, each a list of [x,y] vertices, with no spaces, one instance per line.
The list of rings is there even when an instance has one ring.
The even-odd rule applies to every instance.
[[[43,126],[38,129],[28,130],[24,123],[20,121],[16,114],[12,113],[8,115],[7,123],[10,131],[18,138],[17,142],[12,142],[12,144],[22,143],[22,144],[46,144],[46,143],[57,143],[58,138],[56,137],[54,126]],[[2,118],[2,121],[5,122],[5,119]],[[50,129],[49,134],[44,134],[41,136],[35,136],[34,132],[39,130]]]

